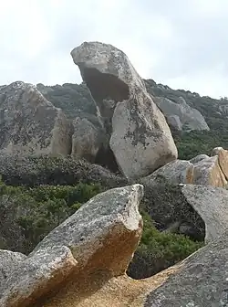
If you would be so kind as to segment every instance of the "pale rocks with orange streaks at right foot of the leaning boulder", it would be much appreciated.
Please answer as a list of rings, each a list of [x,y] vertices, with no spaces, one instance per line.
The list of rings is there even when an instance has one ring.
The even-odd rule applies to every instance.
[[[199,154],[190,161],[171,161],[158,170],[140,178],[140,183],[146,186],[193,184],[225,187],[227,185],[228,151],[218,147],[212,151],[211,157]]]

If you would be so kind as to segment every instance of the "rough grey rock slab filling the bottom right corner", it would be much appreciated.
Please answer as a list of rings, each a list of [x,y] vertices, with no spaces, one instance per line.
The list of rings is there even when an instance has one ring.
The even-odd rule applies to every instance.
[[[227,297],[228,232],[171,268],[168,279],[150,291],[144,307],[222,307]],[[154,279],[159,279],[154,276]],[[165,280],[166,279],[166,280]]]

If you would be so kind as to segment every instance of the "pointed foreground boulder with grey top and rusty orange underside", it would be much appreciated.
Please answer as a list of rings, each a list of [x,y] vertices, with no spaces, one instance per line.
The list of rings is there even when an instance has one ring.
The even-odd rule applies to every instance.
[[[5,279],[0,289],[1,307],[46,306],[47,293],[58,287],[61,291],[54,301],[61,306],[68,288],[76,287],[77,293],[84,285],[83,291],[88,291],[92,279],[103,282],[123,275],[140,240],[138,206],[142,196],[142,185],[130,185],[90,199]],[[82,280],[85,284],[78,285]]]

